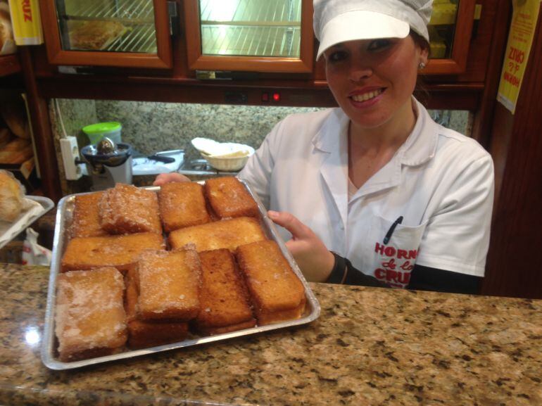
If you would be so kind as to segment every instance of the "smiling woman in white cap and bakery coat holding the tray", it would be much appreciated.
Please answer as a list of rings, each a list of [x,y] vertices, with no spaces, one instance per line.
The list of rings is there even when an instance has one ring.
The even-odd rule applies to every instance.
[[[311,281],[477,293],[493,163],[412,96],[427,64],[431,1],[314,8],[317,58],[339,108],[279,122],[239,177]]]

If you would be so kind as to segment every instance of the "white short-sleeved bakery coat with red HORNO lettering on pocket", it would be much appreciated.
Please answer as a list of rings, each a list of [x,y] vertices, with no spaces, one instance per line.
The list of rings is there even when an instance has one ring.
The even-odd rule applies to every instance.
[[[267,208],[291,212],[329,250],[391,286],[407,286],[415,263],[484,276],[491,156],[474,139],[438,125],[413,100],[418,115],[412,133],[351,199],[349,119],[340,108],[279,122],[239,177]],[[279,232],[291,238],[285,229]]]

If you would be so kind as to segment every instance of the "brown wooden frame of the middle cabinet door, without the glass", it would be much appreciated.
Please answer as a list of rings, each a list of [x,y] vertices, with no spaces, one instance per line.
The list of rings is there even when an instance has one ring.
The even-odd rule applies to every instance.
[[[207,56],[201,53],[198,0],[184,0],[184,30],[190,70],[310,73],[314,63],[313,0],[301,0],[300,58]]]

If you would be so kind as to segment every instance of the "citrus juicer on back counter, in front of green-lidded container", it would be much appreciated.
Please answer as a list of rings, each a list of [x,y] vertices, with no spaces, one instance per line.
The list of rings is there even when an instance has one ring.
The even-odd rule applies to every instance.
[[[132,184],[132,146],[115,144],[104,137],[97,145],[87,145],[81,150],[87,160],[87,173],[92,177],[92,190],[114,187],[115,183]]]

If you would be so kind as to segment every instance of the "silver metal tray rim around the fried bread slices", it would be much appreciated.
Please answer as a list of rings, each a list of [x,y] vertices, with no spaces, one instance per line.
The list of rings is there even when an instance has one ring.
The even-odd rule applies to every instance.
[[[191,347],[193,345],[199,345],[204,343],[210,343],[213,341],[224,341],[229,338],[248,336],[252,334],[260,334],[265,331],[284,329],[290,326],[298,326],[301,324],[308,324],[313,322],[320,316],[320,304],[315,298],[313,291],[308,286],[305,277],[301,273],[301,270],[298,268],[294,258],[291,257],[291,254],[286,249],[284,241],[282,241],[279,236],[275,224],[267,217],[267,211],[260,202],[258,196],[251,190],[250,186],[240,179],[241,182],[246,186],[251,196],[258,203],[260,208],[261,223],[267,238],[277,241],[282,254],[288,260],[292,269],[301,280],[301,283],[305,287],[305,296],[307,300],[307,305],[305,309],[305,314],[300,319],[288,320],[286,322],[279,322],[276,324],[267,324],[265,326],[256,326],[251,329],[244,329],[239,331],[232,331],[231,333],[226,334],[217,334],[215,336],[189,336],[188,339],[184,341],[179,341],[178,343],[170,343],[165,345],[159,345],[157,347],[144,348],[141,350],[125,350],[122,353],[114,355],[106,355],[104,357],[89,358],[87,360],[80,360],[74,362],[61,362],[56,357],[56,337],[54,331],[54,320],[55,320],[55,303],[56,303],[56,277],[60,271],[61,259],[64,253],[65,244],[68,242],[68,231],[70,224],[72,222],[73,215],[73,205],[75,201],[75,196],[77,194],[72,194],[65,196],[58,203],[57,215],[56,215],[56,224],[55,224],[55,235],[53,241],[53,256],[51,260],[51,272],[49,275],[49,291],[47,293],[47,307],[45,312],[45,328],[44,328],[44,337],[42,343],[42,361],[46,367],[50,369],[73,369],[79,367],[85,367],[87,365],[101,364],[103,362],[109,362],[114,360],[122,360],[125,358],[139,357],[141,355],[149,355],[153,353],[160,353],[162,351],[175,350],[177,348]],[[204,182],[199,182],[204,183]],[[158,186],[147,187],[144,189],[149,189],[156,191],[160,189]],[[82,195],[82,194],[81,194]]]

